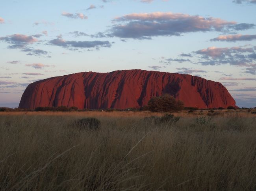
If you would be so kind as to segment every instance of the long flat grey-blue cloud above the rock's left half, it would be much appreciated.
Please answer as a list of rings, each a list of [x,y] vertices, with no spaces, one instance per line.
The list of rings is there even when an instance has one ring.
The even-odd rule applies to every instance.
[[[65,41],[62,38],[56,38],[50,41],[51,44],[62,47],[76,47],[76,48],[93,48],[93,47],[111,47],[109,41]]]

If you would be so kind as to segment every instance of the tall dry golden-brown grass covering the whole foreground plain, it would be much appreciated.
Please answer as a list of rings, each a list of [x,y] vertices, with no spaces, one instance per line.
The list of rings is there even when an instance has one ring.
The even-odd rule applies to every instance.
[[[256,115],[150,115],[1,114],[0,189],[256,190]],[[101,128],[78,128],[84,116]]]

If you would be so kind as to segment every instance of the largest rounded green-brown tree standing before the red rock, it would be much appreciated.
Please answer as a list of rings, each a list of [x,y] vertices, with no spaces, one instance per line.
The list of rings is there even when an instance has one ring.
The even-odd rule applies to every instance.
[[[180,100],[177,101],[173,96],[164,94],[159,97],[152,97],[148,101],[148,108],[155,112],[170,112],[182,110],[184,104]]]

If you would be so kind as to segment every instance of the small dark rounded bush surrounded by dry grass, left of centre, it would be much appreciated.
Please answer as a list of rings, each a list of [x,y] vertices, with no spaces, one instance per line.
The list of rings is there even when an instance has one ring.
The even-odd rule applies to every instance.
[[[100,120],[93,118],[93,117],[79,119],[76,122],[76,125],[80,129],[89,129],[89,130],[96,130],[96,129],[100,128],[100,126],[101,126]]]

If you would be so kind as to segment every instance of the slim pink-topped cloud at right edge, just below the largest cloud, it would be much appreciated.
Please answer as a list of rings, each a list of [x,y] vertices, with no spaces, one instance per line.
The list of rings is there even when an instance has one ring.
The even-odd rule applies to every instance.
[[[211,41],[226,41],[226,42],[236,42],[236,41],[250,41],[255,40],[256,35],[223,35],[217,38],[211,39]]]

